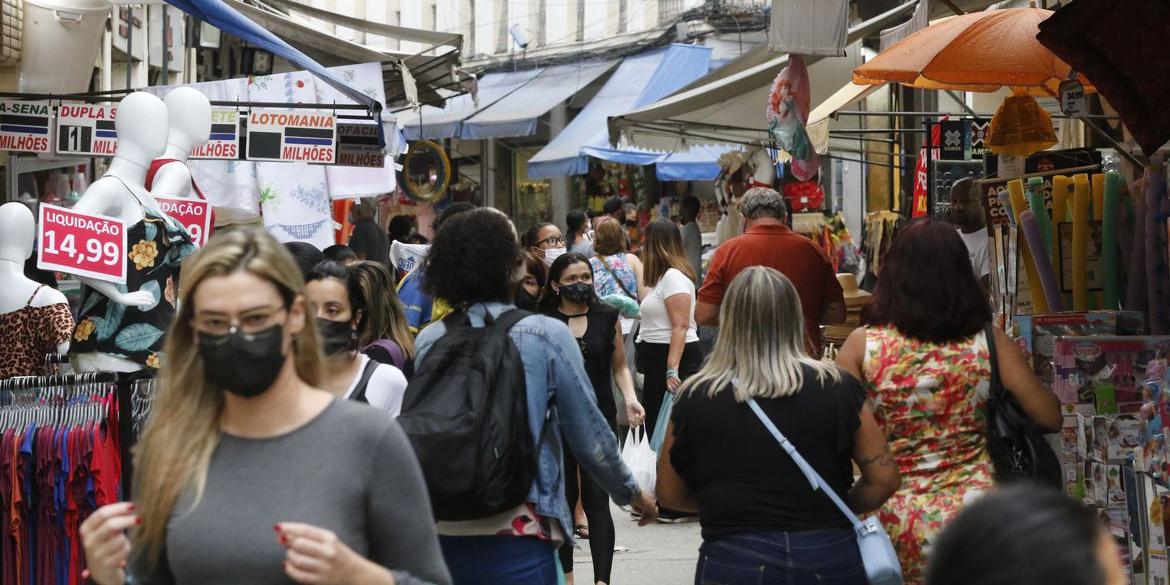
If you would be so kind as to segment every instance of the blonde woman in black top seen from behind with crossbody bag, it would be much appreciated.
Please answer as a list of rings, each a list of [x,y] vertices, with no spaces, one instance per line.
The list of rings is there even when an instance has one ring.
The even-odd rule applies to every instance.
[[[695,583],[866,585],[849,519],[814,490],[749,407],[755,400],[858,514],[899,473],[861,384],[805,352],[796,287],[772,268],[731,282],[702,370],[680,388],[658,468],[659,502],[697,511]],[[861,477],[853,481],[853,463]]]

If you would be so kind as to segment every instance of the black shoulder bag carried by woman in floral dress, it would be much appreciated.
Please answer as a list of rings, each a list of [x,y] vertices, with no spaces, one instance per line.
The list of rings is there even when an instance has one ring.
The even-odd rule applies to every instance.
[[[987,353],[991,357],[991,388],[987,391],[987,454],[996,467],[996,481],[1032,482],[1060,489],[1064,480],[1060,460],[1045,440],[1016,397],[1007,392],[999,379],[996,356],[996,332],[991,324],[984,329]]]

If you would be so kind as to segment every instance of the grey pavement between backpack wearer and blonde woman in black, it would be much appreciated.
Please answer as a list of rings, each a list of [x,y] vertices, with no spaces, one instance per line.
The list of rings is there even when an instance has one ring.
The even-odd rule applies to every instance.
[[[702,543],[698,522],[639,526],[629,514],[612,507],[617,528],[613,580],[617,585],[688,585]],[[578,541],[573,553],[573,584],[593,585],[589,541]]]

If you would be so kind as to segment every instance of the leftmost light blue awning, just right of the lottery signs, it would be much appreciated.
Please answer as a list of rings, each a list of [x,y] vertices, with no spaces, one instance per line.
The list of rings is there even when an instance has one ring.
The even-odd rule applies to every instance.
[[[424,105],[418,112],[401,112],[398,123],[408,140],[463,138],[460,126],[464,119],[512,95],[543,71],[528,69],[487,74],[479,82],[479,105],[469,94],[463,94],[447,99],[445,108]]]

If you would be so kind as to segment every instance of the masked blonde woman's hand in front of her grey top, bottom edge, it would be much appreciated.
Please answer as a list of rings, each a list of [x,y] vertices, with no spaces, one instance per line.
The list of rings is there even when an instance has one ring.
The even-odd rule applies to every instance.
[[[309,524],[276,524],[276,538],[284,546],[284,573],[310,585],[393,585],[394,576],[366,560],[337,535]]]

